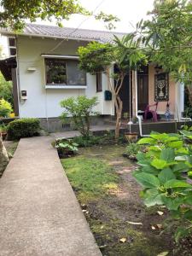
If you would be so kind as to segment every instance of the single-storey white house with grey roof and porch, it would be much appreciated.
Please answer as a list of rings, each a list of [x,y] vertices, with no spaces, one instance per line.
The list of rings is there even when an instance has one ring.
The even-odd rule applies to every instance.
[[[61,100],[79,95],[98,97],[96,111],[102,120],[114,116],[113,99],[108,101],[105,97],[105,73],[95,76],[79,70],[77,54],[79,46],[90,41],[111,42],[114,32],[27,24],[23,32],[1,29],[1,33],[8,38],[10,58],[0,61],[0,69],[6,79],[13,80],[15,113],[20,118],[39,118],[49,131],[61,130]],[[124,113],[135,104],[129,81],[126,76],[120,92]],[[179,119],[183,112],[183,86],[153,64],[137,73],[137,98],[140,112],[155,101],[159,102],[158,113],[162,115],[167,102],[173,118]]]

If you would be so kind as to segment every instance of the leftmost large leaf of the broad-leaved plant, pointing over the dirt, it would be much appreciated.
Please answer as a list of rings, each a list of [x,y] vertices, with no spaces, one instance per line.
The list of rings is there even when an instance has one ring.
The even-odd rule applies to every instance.
[[[157,188],[160,187],[160,181],[157,177],[150,173],[134,173],[137,182],[143,185],[144,188]]]

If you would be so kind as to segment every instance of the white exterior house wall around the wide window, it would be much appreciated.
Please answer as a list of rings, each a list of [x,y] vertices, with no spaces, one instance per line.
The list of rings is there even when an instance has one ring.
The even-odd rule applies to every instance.
[[[77,55],[79,46],[87,44],[83,41],[63,41],[51,51],[59,42],[61,40],[54,38],[17,38],[19,95],[21,90],[27,92],[26,101],[20,99],[20,117],[58,117],[62,112],[61,100],[79,95],[98,96],[96,111],[113,114],[113,102],[104,101],[104,90],[108,88],[105,74],[102,74],[102,92],[96,93],[96,76],[90,74],[87,74],[86,89],[45,89],[44,57],[41,55]],[[36,70],[27,71],[28,67],[35,67]]]

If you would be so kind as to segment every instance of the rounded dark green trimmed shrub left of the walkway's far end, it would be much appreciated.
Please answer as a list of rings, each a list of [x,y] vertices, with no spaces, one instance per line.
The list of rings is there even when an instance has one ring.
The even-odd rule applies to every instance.
[[[10,140],[15,140],[20,139],[21,137],[33,137],[38,135],[39,129],[39,119],[15,119],[8,125],[8,138]]]

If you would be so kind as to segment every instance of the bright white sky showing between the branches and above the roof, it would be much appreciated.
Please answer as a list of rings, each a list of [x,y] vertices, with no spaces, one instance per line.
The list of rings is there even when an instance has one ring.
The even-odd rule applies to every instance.
[[[154,0],[79,0],[79,2],[84,8],[95,11],[95,14],[103,11],[106,14],[118,16],[120,21],[116,23],[116,32],[131,32],[139,20],[147,18],[147,12],[153,9]],[[48,21],[40,20],[37,23],[54,24],[54,22],[49,23]],[[70,20],[64,20],[63,26],[106,30],[102,21],[95,20],[92,17],[84,17],[83,15],[72,15]],[[0,44],[7,54],[7,41],[5,38],[0,38]]]

